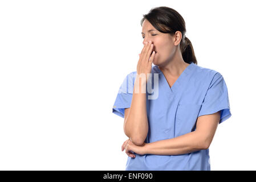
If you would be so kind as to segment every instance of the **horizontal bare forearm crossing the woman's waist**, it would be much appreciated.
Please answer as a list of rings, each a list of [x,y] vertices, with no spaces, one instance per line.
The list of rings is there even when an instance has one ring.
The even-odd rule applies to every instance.
[[[205,150],[206,148],[206,144],[200,133],[193,131],[176,138],[145,143],[144,153],[155,155],[181,155],[198,150]]]

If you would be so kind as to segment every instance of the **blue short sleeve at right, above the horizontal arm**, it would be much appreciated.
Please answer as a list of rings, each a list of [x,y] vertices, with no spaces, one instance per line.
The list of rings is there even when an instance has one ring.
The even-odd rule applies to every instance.
[[[198,117],[217,111],[221,111],[219,124],[231,117],[227,86],[223,76],[218,72],[214,75],[206,92]]]

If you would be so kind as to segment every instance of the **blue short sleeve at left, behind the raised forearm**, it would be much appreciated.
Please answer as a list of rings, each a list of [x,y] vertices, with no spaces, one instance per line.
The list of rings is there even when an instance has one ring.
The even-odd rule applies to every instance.
[[[119,88],[112,113],[124,118],[124,109],[131,107],[136,72],[129,73]]]

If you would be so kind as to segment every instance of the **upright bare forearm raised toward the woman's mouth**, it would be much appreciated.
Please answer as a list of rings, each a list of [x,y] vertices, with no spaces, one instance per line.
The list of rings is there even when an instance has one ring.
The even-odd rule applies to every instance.
[[[145,82],[139,83],[139,77],[136,77],[131,107],[124,123],[125,134],[137,145],[143,144],[148,135],[147,96],[141,92],[144,86]]]

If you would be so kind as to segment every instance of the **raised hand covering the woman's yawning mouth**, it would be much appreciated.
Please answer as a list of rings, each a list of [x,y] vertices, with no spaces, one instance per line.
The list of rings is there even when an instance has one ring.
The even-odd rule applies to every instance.
[[[152,63],[156,53],[155,51],[153,51],[151,55],[153,46],[154,45],[151,41],[146,42],[146,44],[144,45],[141,53],[139,54],[140,59],[137,64],[137,74],[140,75],[141,73],[144,73],[145,76],[148,76],[147,73],[151,73]]]

